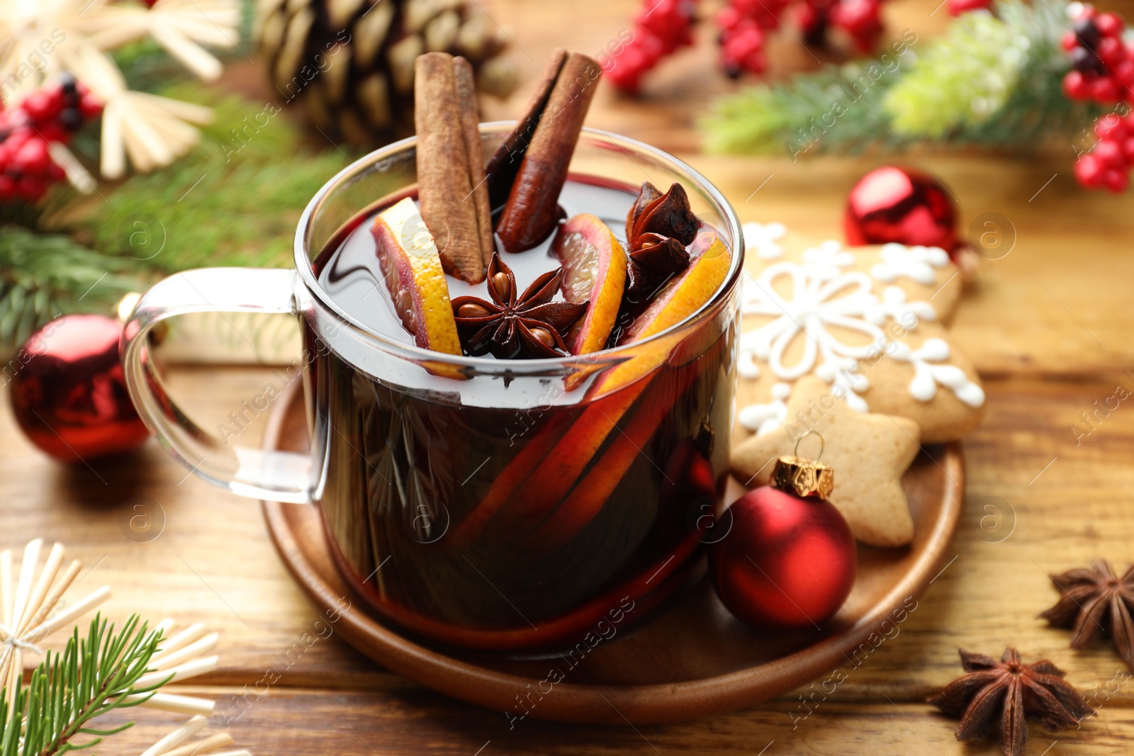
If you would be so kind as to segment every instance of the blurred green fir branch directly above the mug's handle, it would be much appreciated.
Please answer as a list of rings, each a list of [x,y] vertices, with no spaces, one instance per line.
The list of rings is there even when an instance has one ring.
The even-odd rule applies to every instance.
[[[183,84],[166,96],[208,104],[213,124],[186,158],[136,175],[91,203],[78,227],[93,247],[125,255],[133,267],[175,272],[208,265],[290,265],[303,209],[352,156],[312,150],[276,102],[252,102]],[[330,145],[328,145],[330,146]],[[374,196],[388,190],[374,187]],[[141,221],[151,246],[132,247]],[[154,249],[161,252],[154,254]]]

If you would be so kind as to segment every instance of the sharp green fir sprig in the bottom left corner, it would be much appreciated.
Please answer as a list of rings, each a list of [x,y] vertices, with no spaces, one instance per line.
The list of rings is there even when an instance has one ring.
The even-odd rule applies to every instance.
[[[91,748],[104,736],[132,727],[128,722],[102,730],[91,722],[113,710],[144,704],[146,694],[164,683],[135,688],[161,639],[159,630],[147,631],[135,615],[117,632],[101,615],[91,621],[85,638],[76,627],[67,647],[49,652],[26,688],[17,682],[15,690],[0,690],[6,712],[0,719],[0,756],[56,756]],[[91,737],[76,742],[83,734]]]

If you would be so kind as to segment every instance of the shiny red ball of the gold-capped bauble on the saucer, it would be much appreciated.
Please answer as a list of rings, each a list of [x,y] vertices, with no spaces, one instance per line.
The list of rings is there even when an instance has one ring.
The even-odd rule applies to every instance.
[[[835,615],[854,586],[858,550],[829,501],[763,486],[728,513],[731,529],[709,551],[728,611],[760,630],[807,629]]]

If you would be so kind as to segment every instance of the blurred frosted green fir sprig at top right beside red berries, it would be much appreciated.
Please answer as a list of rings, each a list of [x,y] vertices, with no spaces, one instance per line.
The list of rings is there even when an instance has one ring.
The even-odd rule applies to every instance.
[[[916,143],[1031,150],[1064,138],[1068,148],[1099,109],[1069,101],[1059,37],[1064,0],[1000,0],[941,36],[903,40],[880,59],[827,67],[725,97],[702,121],[714,152],[903,150]]]

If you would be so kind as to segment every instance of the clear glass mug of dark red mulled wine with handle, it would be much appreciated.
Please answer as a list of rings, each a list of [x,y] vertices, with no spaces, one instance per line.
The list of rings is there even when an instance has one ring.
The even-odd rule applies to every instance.
[[[481,126],[486,155],[511,127]],[[411,137],[319,190],[299,219],[295,270],[186,271],[146,291],[122,341],[135,406],[162,447],[206,481],[316,504],[342,576],[421,639],[553,651],[642,617],[695,577],[720,508],[743,238],[700,173],[634,139],[584,129],[570,171],[573,181],[633,192],[627,203],[643,178],[682,182],[731,250],[711,300],[641,342],[555,359],[439,354],[367,328],[319,271],[388,204],[378,197],[413,193]],[[603,218],[619,235],[621,213]],[[146,333],[201,312],[298,317],[310,455],[229,445],[172,402]],[[603,380],[615,371],[618,380]]]

